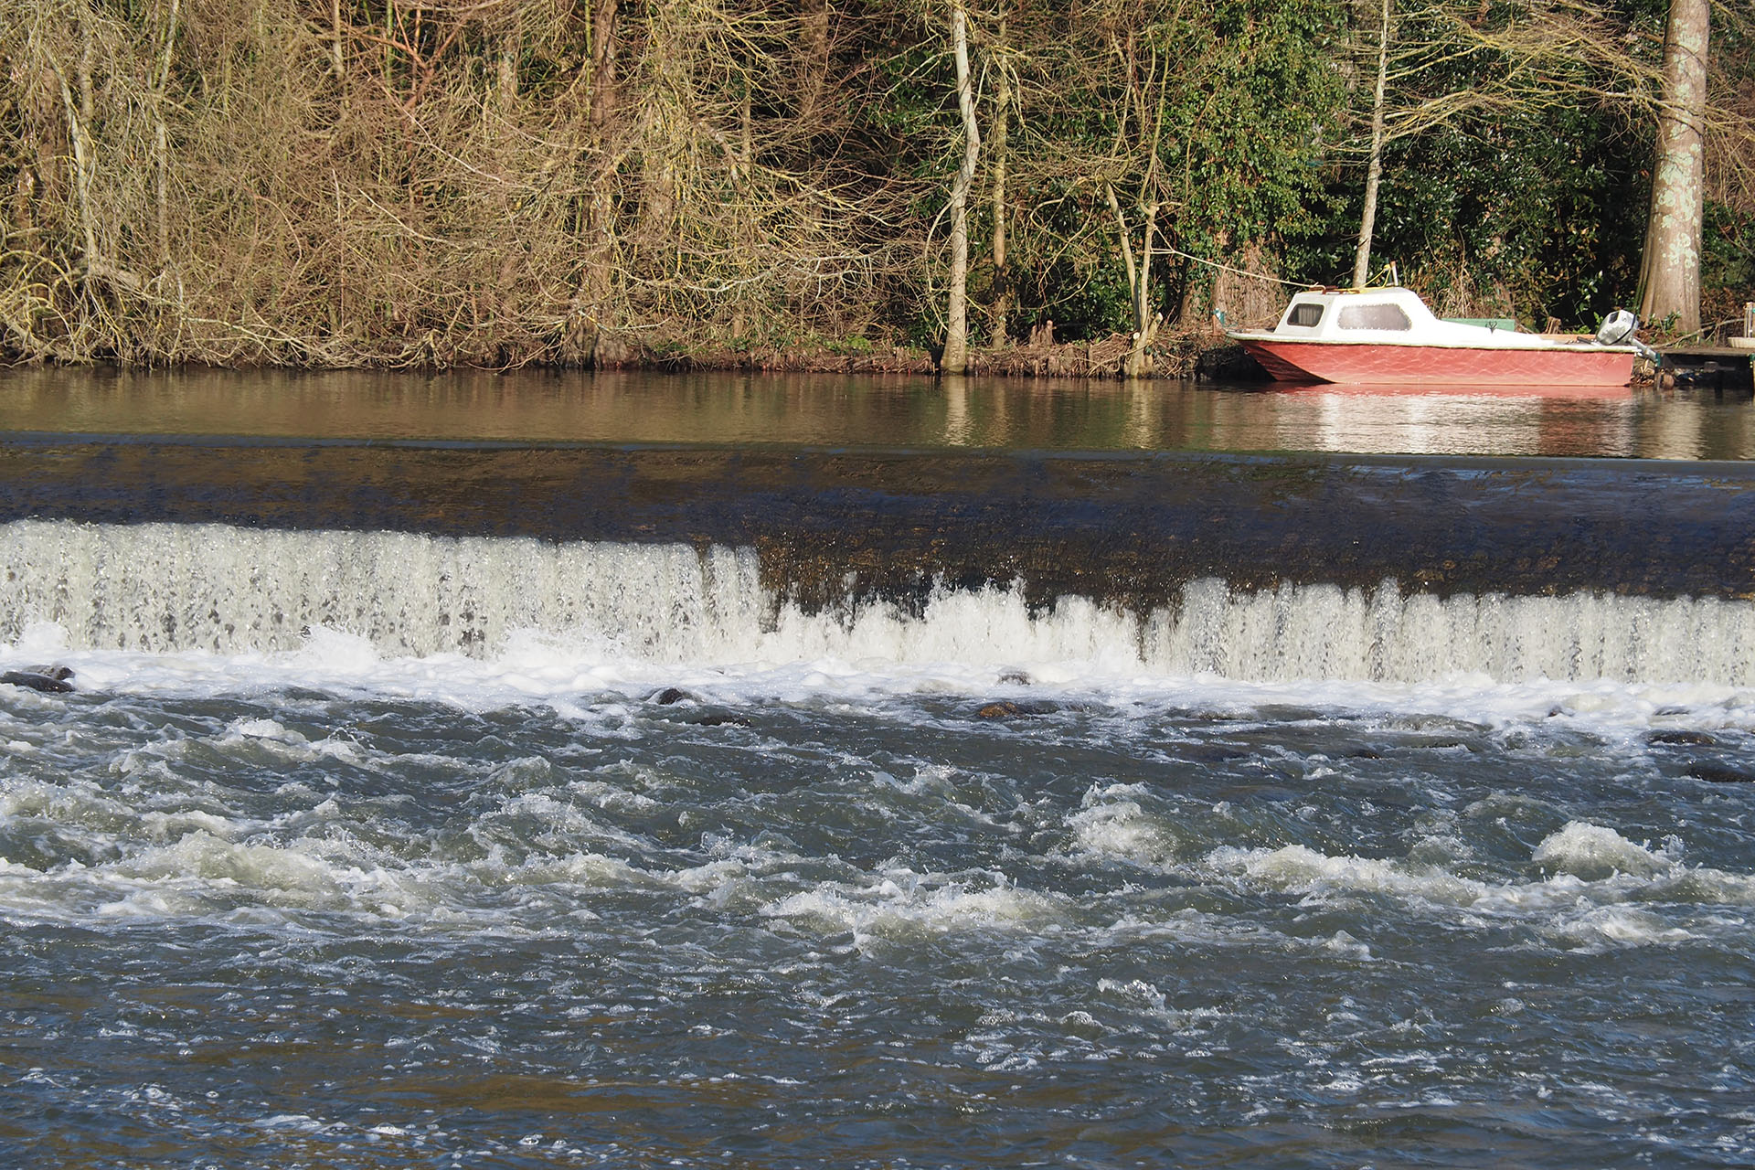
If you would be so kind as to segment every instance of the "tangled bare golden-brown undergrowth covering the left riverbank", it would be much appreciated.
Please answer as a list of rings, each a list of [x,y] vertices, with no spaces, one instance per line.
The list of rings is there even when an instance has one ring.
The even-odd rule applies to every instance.
[[[874,232],[883,184],[774,163],[809,30],[597,7],[0,0],[0,351],[519,365],[865,330],[920,246]]]

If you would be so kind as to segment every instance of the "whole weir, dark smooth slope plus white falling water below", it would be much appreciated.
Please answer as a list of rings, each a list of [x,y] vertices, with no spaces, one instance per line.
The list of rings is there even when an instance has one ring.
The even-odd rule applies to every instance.
[[[0,640],[1755,682],[1734,463],[16,435]]]

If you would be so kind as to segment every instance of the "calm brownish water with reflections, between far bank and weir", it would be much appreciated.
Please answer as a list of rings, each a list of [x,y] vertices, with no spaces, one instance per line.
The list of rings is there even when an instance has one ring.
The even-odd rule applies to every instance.
[[[0,430],[453,442],[1755,458],[1748,395],[455,370],[5,370]]]

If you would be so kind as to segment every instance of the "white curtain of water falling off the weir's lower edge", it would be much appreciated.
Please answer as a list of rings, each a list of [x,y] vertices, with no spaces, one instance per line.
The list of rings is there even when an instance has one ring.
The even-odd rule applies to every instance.
[[[33,623],[77,647],[286,651],[325,626],[386,654],[493,654],[514,633],[660,663],[990,667],[1095,661],[1232,679],[1520,679],[1748,684],[1755,605],[1613,593],[1404,595],[1207,577],[1127,610],[1079,595],[937,586],[913,605],[806,607],[762,584],[755,549],[261,531],[221,524],[0,526],[0,640]]]

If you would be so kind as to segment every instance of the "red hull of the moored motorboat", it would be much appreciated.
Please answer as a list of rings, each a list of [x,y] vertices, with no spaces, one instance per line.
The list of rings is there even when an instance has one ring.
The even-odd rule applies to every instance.
[[[1625,386],[1634,351],[1604,346],[1492,349],[1239,339],[1281,382],[1350,386]]]

